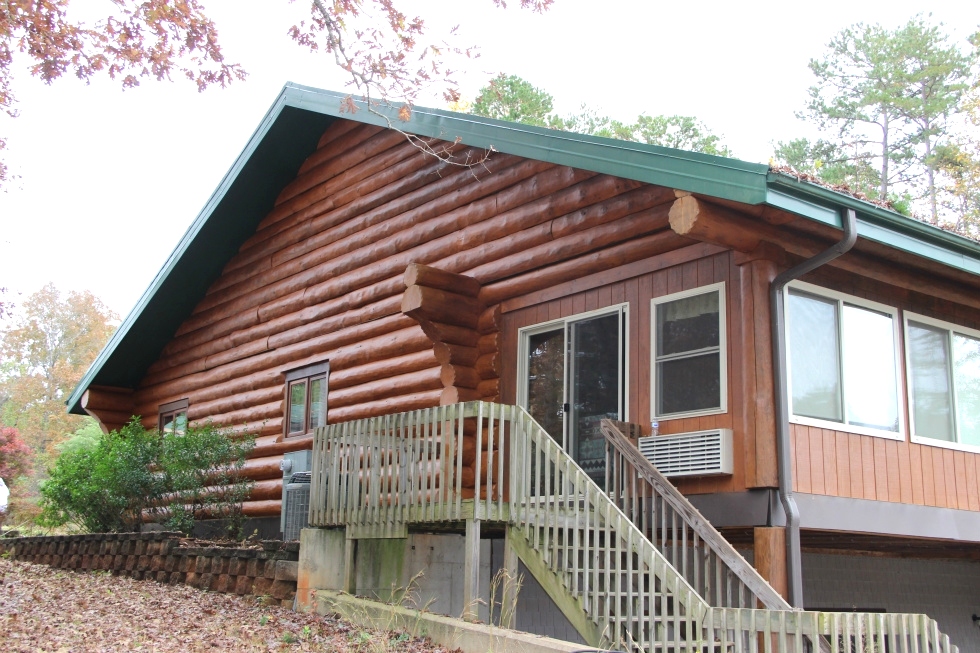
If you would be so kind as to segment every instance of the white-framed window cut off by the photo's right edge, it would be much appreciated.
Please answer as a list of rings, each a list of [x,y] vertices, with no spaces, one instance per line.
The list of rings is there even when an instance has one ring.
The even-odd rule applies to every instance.
[[[980,451],[980,332],[905,315],[912,439]]]

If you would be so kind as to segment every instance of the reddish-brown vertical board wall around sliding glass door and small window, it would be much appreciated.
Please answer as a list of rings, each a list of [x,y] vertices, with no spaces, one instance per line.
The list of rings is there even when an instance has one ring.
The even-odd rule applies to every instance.
[[[684,243],[686,244],[686,243]],[[732,375],[737,378],[738,371],[744,367],[755,369],[754,359],[746,359],[744,350],[738,345],[743,332],[742,323],[751,326],[753,315],[748,304],[748,312],[742,308],[742,289],[740,279],[742,269],[737,267],[729,252],[702,256],[700,246],[675,249],[670,258],[676,264],[652,272],[642,272],[637,266],[613,268],[608,273],[608,283],[601,279],[595,288],[569,293],[548,301],[542,301],[524,308],[507,312],[503,316],[504,327],[501,333],[503,370],[500,375],[501,401],[516,402],[517,398],[517,355],[518,329],[585,313],[607,306],[629,304],[629,378],[627,379],[627,406],[629,421],[649,425],[650,423],[650,300],[655,297],[707,286],[719,281],[725,282],[728,298],[728,412],[720,415],[694,417],[687,419],[663,420],[662,433],[682,433],[711,428],[733,429],[735,451],[734,473],[731,476],[713,478],[691,478],[679,480],[677,486],[688,494],[706,492],[733,492],[746,489],[746,465],[755,455],[754,429],[746,426],[743,413],[748,409],[741,389]],[[665,257],[666,258],[666,257]],[[649,260],[650,268],[659,267],[657,261]],[[751,352],[750,352],[751,353]],[[749,402],[751,403],[751,402]],[[645,432],[649,429],[644,428]],[[746,437],[748,434],[749,437]],[[749,444],[747,444],[747,441]],[[750,446],[751,445],[751,446]]]

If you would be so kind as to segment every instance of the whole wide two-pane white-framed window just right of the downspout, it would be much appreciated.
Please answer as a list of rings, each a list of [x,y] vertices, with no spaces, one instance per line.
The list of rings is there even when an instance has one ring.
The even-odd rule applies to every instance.
[[[788,294],[792,420],[902,438],[895,309],[803,283]]]

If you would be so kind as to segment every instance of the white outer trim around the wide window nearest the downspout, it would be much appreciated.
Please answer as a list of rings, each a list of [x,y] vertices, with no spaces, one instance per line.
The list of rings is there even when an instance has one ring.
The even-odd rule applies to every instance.
[[[789,291],[790,289],[801,290],[810,295],[816,295],[818,297],[823,297],[825,299],[831,299],[838,302],[846,302],[854,306],[859,306],[861,308],[867,308],[872,311],[877,311],[879,313],[886,313],[892,317],[892,340],[895,343],[893,355],[895,358],[895,401],[896,408],[898,410],[898,431],[883,431],[881,429],[869,428],[866,426],[857,426],[854,424],[846,424],[843,422],[833,422],[825,419],[817,419],[814,417],[802,417],[793,413],[793,375],[791,373],[793,369],[792,354],[789,346],[789,320],[791,319],[789,311],[785,312],[786,315],[786,394],[789,399],[789,421],[791,424],[800,424],[802,426],[814,426],[817,428],[828,429],[833,431],[841,431],[842,433],[854,433],[857,435],[870,435],[876,438],[885,438],[888,440],[898,440],[905,441],[905,431],[906,431],[906,406],[905,406],[905,393],[902,391],[902,343],[904,342],[900,336],[902,330],[902,320],[899,315],[897,308],[893,306],[888,306],[887,304],[879,304],[878,302],[873,302],[868,299],[862,299],[861,297],[855,297],[854,295],[847,295],[842,292],[837,292],[836,290],[830,290],[824,288],[823,286],[816,286],[812,283],[806,283],[805,281],[792,281],[785,288],[783,288],[783,306],[789,306]],[[840,345],[840,343],[838,343]],[[841,361],[843,364],[843,360]]]

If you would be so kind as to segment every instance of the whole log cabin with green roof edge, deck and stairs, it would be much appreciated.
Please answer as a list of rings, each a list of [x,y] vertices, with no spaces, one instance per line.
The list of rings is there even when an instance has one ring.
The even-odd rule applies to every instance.
[[[426,568],[486,619],[519,570],[498,620],[591,646],[980,650],[980,245],[766,165],[345,99],[284,87],[71,412],[252,433],[273,532],[312,450],[301,593]]]

